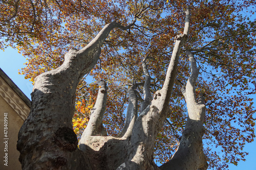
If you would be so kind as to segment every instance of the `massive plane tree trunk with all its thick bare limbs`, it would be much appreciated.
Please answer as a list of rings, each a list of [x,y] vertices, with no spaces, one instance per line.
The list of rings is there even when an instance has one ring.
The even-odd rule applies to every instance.
[[[193,90],[197,76],[193,75],[198,75],[198,70],[189,52],[186,53],[193,61],[192,74],[186,89],[182,90],[187,102],[188,119],[180,147],[173,159],[160,167],[153,160],[155,138],[169,114],[180,51],[188,36],[189,9],[185,13],[184,32],[175,38],[162,89],[151,96],[149,85],[152,78],[145,58],[142,67],[146,80],[140,112],[138,101],[141,98],[134,85],[127,89],[129,106],[125,126],[116,137],[108,136],[102,126],[108,88],[102,81],[91,118],[77,148],[77,137],[72,129],[75,90],[79,80],[97,63],[100,46],[110,31],[114,28],[126,30],[131,25],[122,27],[116,22],[109,23],[86,47],[79,51],[71,49],[60,67],[38,76],[32,92],[30,114],[18,134],[17,149],[23,169],[206,169],[202,152],[205,106],[202,100],[195,102]],[[196,73],[194,70],[197,70]]]

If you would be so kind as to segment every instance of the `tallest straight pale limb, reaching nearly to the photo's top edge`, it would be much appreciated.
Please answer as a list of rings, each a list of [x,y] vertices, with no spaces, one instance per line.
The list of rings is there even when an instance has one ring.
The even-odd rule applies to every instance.
[[[189,27],[189,9],[186,12],[188,23],[185,27]],[[184,31],[188,33],[188,28]],[[155,93],[148,112],[142,112],[136,120],[131,136],[129,158],[117,169],[159,169],[153,160],[154,142],[169,113],[169,99],[177,74],[180,50],[186,39],[186,34],[176,37],[164,85]]]

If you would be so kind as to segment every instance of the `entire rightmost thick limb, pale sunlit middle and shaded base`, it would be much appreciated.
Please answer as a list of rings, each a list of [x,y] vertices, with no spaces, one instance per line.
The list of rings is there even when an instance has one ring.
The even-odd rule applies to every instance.
[[[191,74],[188,78],[182,93],[187,104],[188,117],[178,150],[172,159],[163,164],[161,169],[200,169],[208,167],[206,157],[203,152],[202,137],[204,134],[203,119],[205,115],[205,105],[202,95],[196,99],[195,83],[199,74],[197,63],[193,53],[185,51],[189,57]],[[184,163],[186,162],[186,163]]]

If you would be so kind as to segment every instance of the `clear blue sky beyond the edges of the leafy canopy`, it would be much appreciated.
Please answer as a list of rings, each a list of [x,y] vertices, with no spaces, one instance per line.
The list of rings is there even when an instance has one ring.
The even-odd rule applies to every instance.
[[[0,51],[0,61],[0,67],[31,100],[30,93],[33,88],[32,83],[29,80],[25,80],[23,75],[18,75],[18,69],[25,67],[24,63],[26,62],[26,58],[19,54],[17,50],[7,48],[5,52]],[[254,96],[254,107],[256,107],[255,103]],[[244,151],[249,153],[249,155],[245,157],[246,161],[239,162],[238,166],[230,165],[230,170],[256,170],[256,141],[247,143]]]

